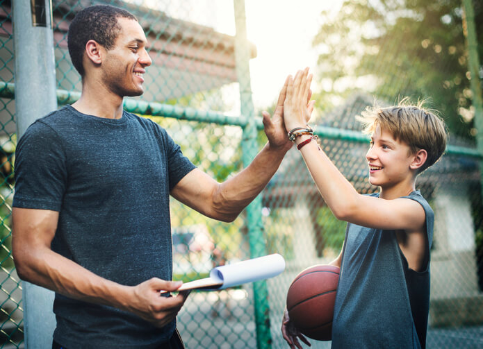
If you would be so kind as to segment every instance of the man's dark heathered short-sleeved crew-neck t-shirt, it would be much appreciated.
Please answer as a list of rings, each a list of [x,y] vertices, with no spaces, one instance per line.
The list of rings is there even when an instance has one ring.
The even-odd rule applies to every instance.
[[[67,105],[35,121],[15,155],[13,206],[60,212],[52,250],[120,284],[171,280],[170,189],[195,166],[163,128]],[[154,348],[176,326],[60,294],[54,312],[54,339],[69,349]]]

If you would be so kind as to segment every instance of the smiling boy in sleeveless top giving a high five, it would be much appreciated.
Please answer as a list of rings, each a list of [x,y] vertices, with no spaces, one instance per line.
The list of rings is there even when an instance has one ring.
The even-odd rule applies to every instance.
[[[347,221],[343,250],[331,262],[341,267],[332,348],[425,348],[434,213],[416,191],[416,177],[443,154],[443,121],[404,101],[363,112],[369,181],[380,191],[358,194],[306,126],[308,72],[289,77],[284,121],[325,203]],[[310,346],[288,312],[282,333],[291,348],[302,348],[297,337]]]

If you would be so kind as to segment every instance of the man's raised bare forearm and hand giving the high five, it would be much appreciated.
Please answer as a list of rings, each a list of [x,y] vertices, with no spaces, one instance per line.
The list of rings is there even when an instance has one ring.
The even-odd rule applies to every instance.
[[[171,194],[174,198],[213,219],[236,219],[268,184],[292,146],[283,119],[287,82],[288,79],[280,91],[273,117],[270,118],[270,114],[263,112],[263,126],[268,143],[252,163],[223,183],[218,183],[206,173],[195,169],[172,189]],[[306,105],[306,108],[311,112],[313,103]]]

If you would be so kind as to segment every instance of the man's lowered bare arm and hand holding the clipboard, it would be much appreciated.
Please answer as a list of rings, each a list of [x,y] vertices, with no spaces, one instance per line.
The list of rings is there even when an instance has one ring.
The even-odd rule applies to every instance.
[[[159,291],[175,291],[181,282],[153,278],[135,287],[124,286],[95,275],[51,250],[58,212],[14,207],[13,257],[22,280],[64,296],[109,305],[132,312],[158,327],[174,320],[188,293],[161,297]]]

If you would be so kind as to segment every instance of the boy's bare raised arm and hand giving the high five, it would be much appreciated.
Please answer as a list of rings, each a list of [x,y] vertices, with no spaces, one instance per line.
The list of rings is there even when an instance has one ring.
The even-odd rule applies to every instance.
[[[289,77],[287,96],[284,103],[284,121],[287,130],[305,127],[310,115],[303,108],[307,90],[311,83],[309,69],[298,71],[295,79]],[[297,137],[298,145],[309,135]],[[311,172],[313,180],[337,219],[357,225],[383,230],[404,230],[421,232],[425,224],[423,207],[409,198],[384,200],[357,193],[350,182],[331,162],[316,142],[304,145],[300,152]],[[408,193],[409,194],[409,193]]]

